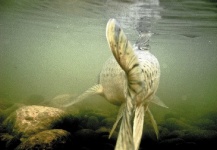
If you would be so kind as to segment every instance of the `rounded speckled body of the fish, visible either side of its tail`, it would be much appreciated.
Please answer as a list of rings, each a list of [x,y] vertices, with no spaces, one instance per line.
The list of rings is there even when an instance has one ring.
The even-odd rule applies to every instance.
[[[144,76],[144,91],[149,99],[153,98],[157,91],[160,79],[160,65],[157,58],[148,50],[140,50],[134,47]],[[103,87],[103,95],[107,101],[114,105],[126,102],[127,75],[115,58],[110,57],[104,64],[99,78],[99,84]],[[148,99],[145,99],[148,101]]]

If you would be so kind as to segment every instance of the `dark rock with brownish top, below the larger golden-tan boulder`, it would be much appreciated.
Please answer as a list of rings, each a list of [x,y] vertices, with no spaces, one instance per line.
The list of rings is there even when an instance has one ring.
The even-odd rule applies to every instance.
[[[71,144],[71,134],[62,129],[39,132],[22,142],[16,150],[26,149],[67,149]]]

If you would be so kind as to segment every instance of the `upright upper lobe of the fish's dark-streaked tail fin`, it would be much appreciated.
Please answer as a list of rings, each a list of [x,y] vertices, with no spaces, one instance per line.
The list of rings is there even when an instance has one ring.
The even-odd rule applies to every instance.
[[[144,77],[139,59],[124,31],[115,19],[110,19],[106,26],[106,38],[109,47],[121,68],[125,71],[130,94],[139,93],[144,87]]]

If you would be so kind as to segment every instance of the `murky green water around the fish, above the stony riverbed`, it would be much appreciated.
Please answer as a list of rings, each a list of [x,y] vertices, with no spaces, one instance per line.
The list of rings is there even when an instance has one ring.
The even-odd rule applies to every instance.
[[[0,97],[51,99],[97,83],[111,55],[109,18],[132,43],[139,32],[154,33],[151,51],[161,64],[157,94],[169,106],[152,107],[157,120],[168,112],[198,117],[216,110],[217,4],[208,0],[3,0]]]

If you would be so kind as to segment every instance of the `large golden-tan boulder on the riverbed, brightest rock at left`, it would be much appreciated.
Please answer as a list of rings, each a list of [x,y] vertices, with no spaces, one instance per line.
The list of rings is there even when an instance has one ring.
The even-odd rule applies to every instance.
[[[8,116],[3,125],[21,140],[38,132],[52,128],[54,122],[61,119],[65,112],[52,107],[23,106]]]

